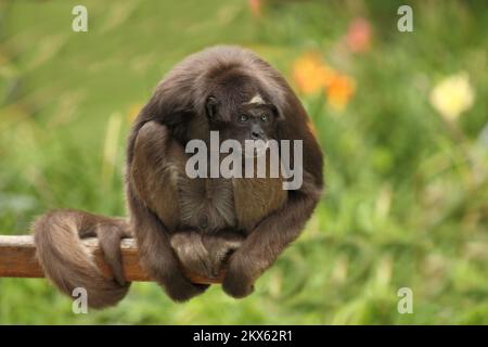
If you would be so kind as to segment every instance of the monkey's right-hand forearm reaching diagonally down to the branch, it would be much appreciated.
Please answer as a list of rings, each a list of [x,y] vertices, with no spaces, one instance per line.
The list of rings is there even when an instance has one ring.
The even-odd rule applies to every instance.
[[[286,204],[256,227],[230,258],[222,282],[226,293],[244,297],[253,292],[256,279],[301,232],[319,201],[320,190],[320,185],[304,180],[300,191],[290,192]]]

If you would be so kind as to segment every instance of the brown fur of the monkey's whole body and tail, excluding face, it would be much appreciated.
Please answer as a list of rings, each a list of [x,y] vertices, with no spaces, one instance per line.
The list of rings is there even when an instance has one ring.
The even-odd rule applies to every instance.
[[[232,132],[230,124],[256,93],[275,116],[266,134],[304,141],[303,187],[284,191],[281,178],[189,179],[187,142],[208,141],[209,130],[224,138],[244,133]],[[209,111],[214,99],[216,118]],[[128,288],[118,245],[130,230],[141,265],[174,300],[187,300],[207,287],[191,283],[180,264],[207,277],[226,264],[223,290],[233,297],[251,294],[256,279],[298,236],[319,201],[322,153],[308,121],[284,78],[254,53],[216,47],[190,55],[157,86],[130,132],[129,223],[80,211],[41,217],[34,231],[46,273],[68,295],[75,286],[85,286],[90,306],[114,305]],[[89,235],[101,239],[114,279],[103,278],[86,257],[78,239]]]

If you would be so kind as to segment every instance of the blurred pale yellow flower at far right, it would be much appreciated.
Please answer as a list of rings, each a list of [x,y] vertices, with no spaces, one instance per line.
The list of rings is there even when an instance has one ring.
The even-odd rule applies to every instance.
[[[441,80],[432,90],[429,101],[445,119],[458,119],[474,102],[474,90],[467,74],[460,73]]]

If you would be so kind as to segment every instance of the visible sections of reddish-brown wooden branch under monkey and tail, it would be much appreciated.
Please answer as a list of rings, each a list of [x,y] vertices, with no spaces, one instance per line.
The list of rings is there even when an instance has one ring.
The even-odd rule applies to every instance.
[[[97,239],[84,240],[87,248],[94,255],[97,265],[107,278],[112,278],[111,270],[103,259],[103,253]],[[120,242],[124,273],[127,281],[151,281],[144,270],[139,266],[139,255],[133,239],[124,239]],[[215,284],[221,283],[223,272],[216,279],[207,279],[183,269],[185,275],[193,283]],[[42,268],[36,260],[36,246],[30,235],[8,236],[0,235],[0,278],[43,278]]]

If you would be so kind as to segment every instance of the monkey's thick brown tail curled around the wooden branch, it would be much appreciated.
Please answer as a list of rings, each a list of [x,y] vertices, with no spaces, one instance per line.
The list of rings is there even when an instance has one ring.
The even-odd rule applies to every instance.
[[[60,291],[73,298],[73,290],[84,287],[92,308],[113,306],[127,294],[130,283],[125,281],[120,254],[120,239],[130,236],[125,219],[61,209],[39,217],[33,231],[37,259]],[[81,242],[95,236],[113,279],[103,274]]]

